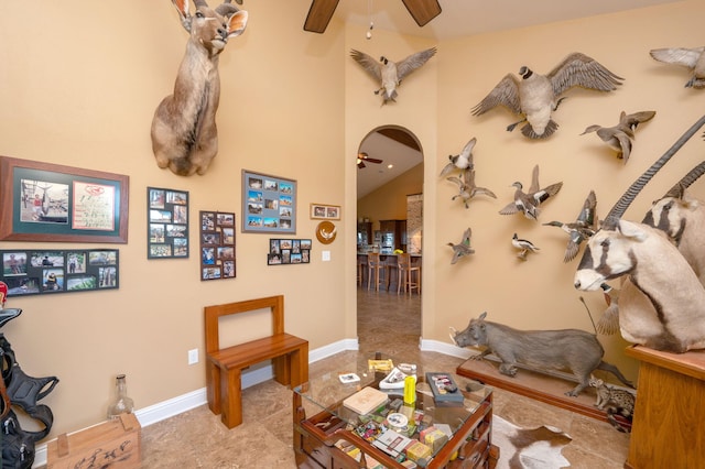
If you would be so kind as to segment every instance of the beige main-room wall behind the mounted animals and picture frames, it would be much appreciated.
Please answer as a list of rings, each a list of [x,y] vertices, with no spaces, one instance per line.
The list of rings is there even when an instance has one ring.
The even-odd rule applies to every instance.
[[[463,327],[482,310],[518,328],[592,330],[581,294],[572,287],[575,263],[562,262],[563,233],[499,216],[512,194],[508,186],[528,182],[539,163],[544,184],[564,182],[544,220],[574,218],[590,188],[604,214],[701,117],[705,99],[704,91],[683,88],[683,69],[648,55],[654,47],[702,45],[705,4],[696,0],[440,44],[377,30],[366,41],[364,28],[338,22],[323,35],[305,33],[307,0],[262,0],[247,3],[248,30],[220,61],[219,155],[207,175],[181,178],[156,167],[149,139],[152,112],[173,86],[186,40],[171,2],[86,4],[0,4],[0,154],[130,175],[129,242],[109,246],[120,249],[120,290],[8,304],[24,309],[2,329],[20,363],[32,375],[62,380],[45,400],[55,414],[52,436],[99,422],[118,372],[128,374],[139,408],[202,389],[203,360],[187,366],[186,351],[199,348],[203,357],[205,305],[281,293],[286,328],[306,337],[312,349],[355,338],[351,155],[370,130],[383,124],[409,129],[424,153],[424,339],[448,342],[448,326]],[[438,54],[404,81],[397,103],[384,107],[371,92],[376,84],[348,57],[358,48],[401,58],[433,45]],[[609,95],[571,91],[555,113],[561,127],[550,140],[530,142],[506,132],[516,117],[501,109],[470,117],[470,108],[507,73],[521,65],[547,72],[574,51],[627,80]],[[622,109],[658,112],[638,130],[627,165],[595,135],[578,137],[588,124],[616,122]],[[498,199],[477,199],[465,209],[451,201],[455,187],[437,175],[446,155],[469,137],[478,139],[477,182]],[[696,140],[657,176],[629,217],[641,219],[652,199],[702,160]],[[200,282],[196,255],[147,260],[145,187],[188,190],[192,219],[206,209],[235,211],[239,221],[242,168],[299,182],[296,237],[314,239],[311,264],[268,268],[269,236],[239,232],[237,280]],[[693,189],[702,197],[703,182]],[[330,262],[321,261],[316,221],[306,216],[312,201],[343,206],[338,238],[325,247]],[[445,243],[467,226],[476,254],[451,266]],[[191,228],[195,239],[196,225]],[[514,231],[536,242],[541,253],[518,261],[509,242]],[[0,242],[0,249],[79,247]],[[598,316],[600,295],[583,296]],[[607,359],[633,377],[636,367],[621,353],[626,342],[600,339]]]

